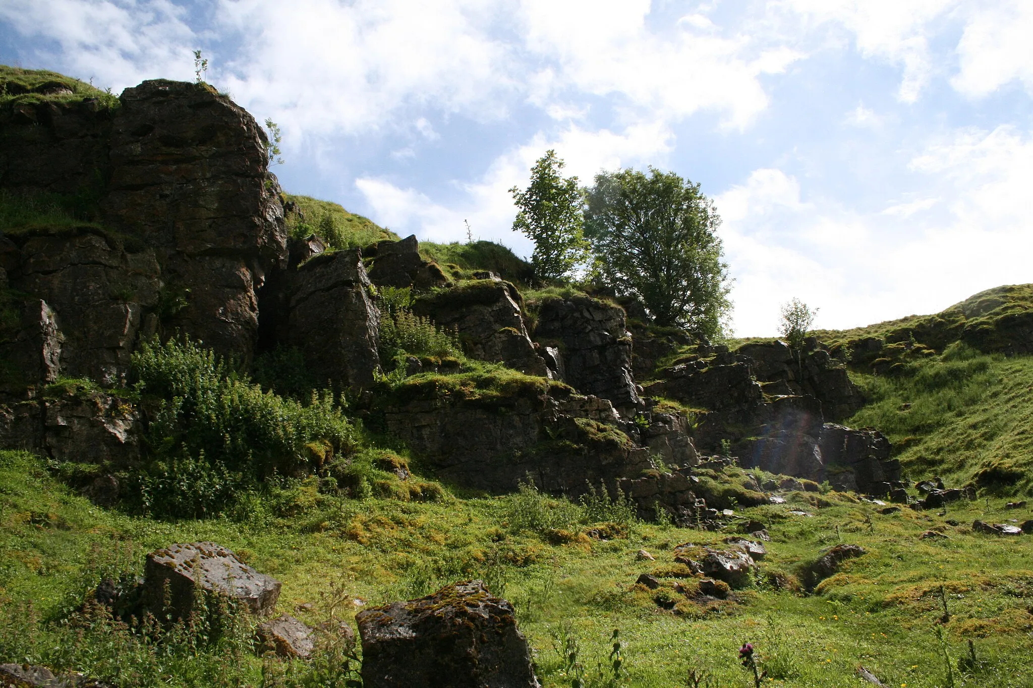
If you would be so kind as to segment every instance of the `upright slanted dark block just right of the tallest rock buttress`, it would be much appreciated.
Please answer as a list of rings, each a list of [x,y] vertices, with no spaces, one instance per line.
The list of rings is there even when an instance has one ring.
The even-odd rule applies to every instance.
[[[368,388],[380,367],[380,312],[357,252],[315,256],[290,277],[282,340],[298,347],[320,382]]]

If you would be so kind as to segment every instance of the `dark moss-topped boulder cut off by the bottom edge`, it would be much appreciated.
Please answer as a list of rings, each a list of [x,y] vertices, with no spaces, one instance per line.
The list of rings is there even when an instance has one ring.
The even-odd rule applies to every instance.
[[[512,605],[480,581],[359,612],[366,688],[537,688]]]

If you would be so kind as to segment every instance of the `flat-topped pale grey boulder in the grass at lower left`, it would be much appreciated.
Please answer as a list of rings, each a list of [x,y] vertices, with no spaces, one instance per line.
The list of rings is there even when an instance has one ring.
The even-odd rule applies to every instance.
[[[257,616],[269,616],[280,597],[280,582],[248,566],[215,543],[173,545],[147,555],[144,595],[152,611],[167,601],[173,616],[187,617],[199,591],[224,594]],[[163,599],[167,582],[167,600]],[[199,590],[198,590],[199,586]]]

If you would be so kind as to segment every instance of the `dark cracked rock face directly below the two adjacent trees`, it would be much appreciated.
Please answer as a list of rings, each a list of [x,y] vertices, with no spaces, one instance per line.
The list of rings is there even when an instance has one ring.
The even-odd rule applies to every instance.
[[[640,399],[631,375],[631,334],[620,306],[587,296],[547,300],[534,338],[542,346],[560,345],[564,382],[609,399],[622,415],[634,413]]]

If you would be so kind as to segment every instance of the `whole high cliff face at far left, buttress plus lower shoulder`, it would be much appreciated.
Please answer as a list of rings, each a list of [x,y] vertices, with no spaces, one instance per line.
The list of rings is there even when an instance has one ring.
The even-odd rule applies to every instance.
[[[252,356],[258,292],[286,260],[286,232],[247,111],[206,85],[152,80],[114,109],[14,107],[0,141],[0,189],[79,199],[103,227],[8,237],[9,286],[57,315],[63,373],[123,383],[142,328],[159,326]]]

